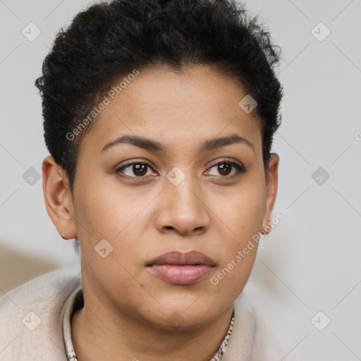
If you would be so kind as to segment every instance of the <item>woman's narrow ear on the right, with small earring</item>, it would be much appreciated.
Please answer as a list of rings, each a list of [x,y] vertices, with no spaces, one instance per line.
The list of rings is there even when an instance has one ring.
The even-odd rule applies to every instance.
[[[269,234],[271,232],[271,214],[276,202],[277,188],[279,185],[279,155],[271,154],[269,159],[269,168],[266,185],[266,209],[264,212],[262,222],[262,234]]]

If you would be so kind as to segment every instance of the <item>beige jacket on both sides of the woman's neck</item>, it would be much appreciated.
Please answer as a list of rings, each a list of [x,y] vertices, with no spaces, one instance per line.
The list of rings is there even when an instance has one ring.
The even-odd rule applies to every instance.
[[[80,266],[57,269],[14,288],[0,298],[1,361],[66,361],[63,317],[66,301],[81,286]],[[285,353],[267,341],[243,293],[222,361],[275,361]]]

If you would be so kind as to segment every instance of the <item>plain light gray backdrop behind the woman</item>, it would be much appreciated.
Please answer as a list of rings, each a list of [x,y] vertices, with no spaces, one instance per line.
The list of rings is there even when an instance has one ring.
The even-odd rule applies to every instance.
[[[0,243],[56,267],[78,256],[47,215],[41,179],[28,184],[23,174],[41,173],[48,154],[35,78],[57,30],[85,4],[0,0]],[[282,360],[361,360],[361,1],[253,0],[247,8],[282,48],[285,95],[274,141],[274,214],[284,219],[262,240],[246,291],[283,340]],[[30,22],[41,30],[32,42],[22,34]],[[322,41],[320,22],[331,31]],[[3,270],[3,282],[10,276]],[[323,331],[311,322],[319,311],[319,328],[331,319]]]

